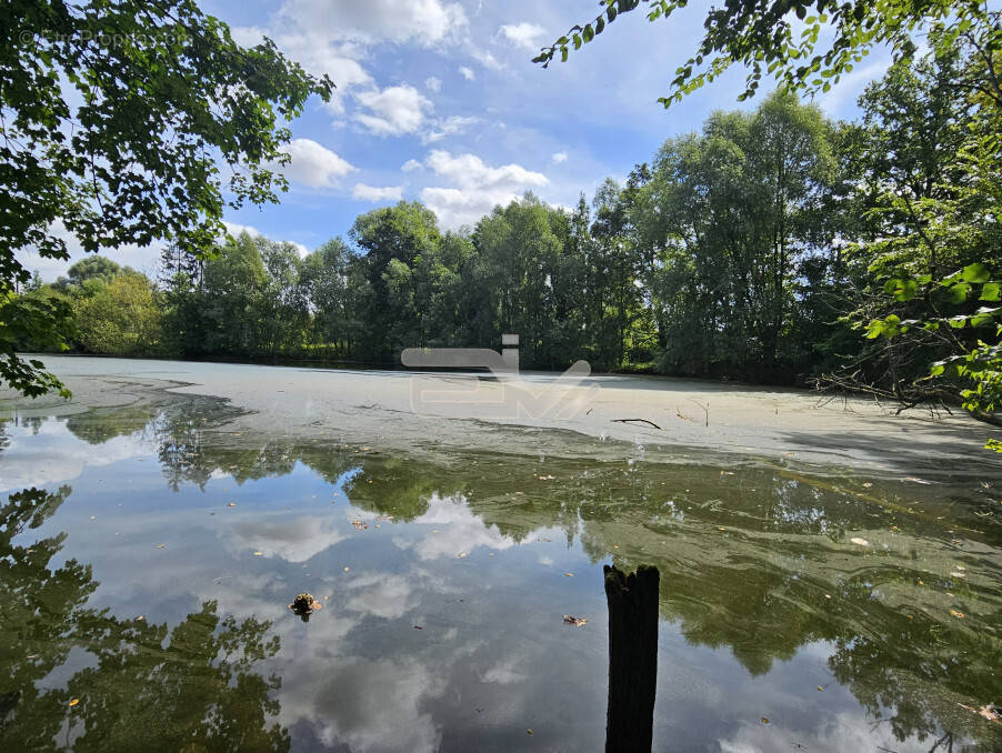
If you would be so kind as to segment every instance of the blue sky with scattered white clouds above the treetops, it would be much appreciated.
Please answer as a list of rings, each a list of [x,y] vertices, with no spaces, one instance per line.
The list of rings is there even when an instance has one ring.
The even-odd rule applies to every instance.
[[[421,200],[443,229],[472,223],[531,190],[572,205],[605,178],[624,178],[664,139],[741,104],[744,73],[664,110],[674,69],[701,38],[705,8],[671,20],[621,16],[567,63],[543,70],[539,47],[593,18],[592,0],[204,0],[246,44],[274,39],[338,90],[314,98],[291,126],[291,187],[279,205],[230,211],[231,229],[292,241],[301,252],[345,235],[354,218],[399,199]],[[888,64],[879,51],[818,98],[853,118],[865,83]],[[79,245],[71,243],[71,248]],[[152,273],[159,249],[108,255]],[[68,264],[21,254],[47,280]]]

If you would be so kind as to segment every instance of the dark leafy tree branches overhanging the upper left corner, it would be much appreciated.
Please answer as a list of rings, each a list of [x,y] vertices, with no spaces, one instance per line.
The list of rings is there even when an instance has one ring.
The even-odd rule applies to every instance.
[[[0,376],[38,395],[61,384],[18,358],[18,331],[60,333],[64,319],[9,299],[29,279],[16,252],[69,259],[68,234],[86,252],[208,249],[227,203],[277,200],[283,121],[332,84],[269,40],[241,48],[194,0],[13,0],[2,17]]]

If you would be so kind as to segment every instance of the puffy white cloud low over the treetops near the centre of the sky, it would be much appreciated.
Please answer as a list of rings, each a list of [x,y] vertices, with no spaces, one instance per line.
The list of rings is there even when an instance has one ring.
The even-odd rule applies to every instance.
[[[508,204],[527,189],[550,182],[544,174],[520,164],[492,168],[475,154],[452,155],[439,149],[428,155],[424,164],[452,183],[421,191],[421,200],[445,228],[472,224],[497,204]]]

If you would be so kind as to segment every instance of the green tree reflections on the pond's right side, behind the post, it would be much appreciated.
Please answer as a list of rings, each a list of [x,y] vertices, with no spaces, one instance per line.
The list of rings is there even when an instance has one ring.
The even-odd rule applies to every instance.
[[[331,482],[354,469],[345,486],[352,504],[397,520],[422,515],[433,493],[455,495],[485,526],[515,541],[560,529],[569,542],[580,538],[595,562],[657,565],[662,616],[693,644],[729,647],[752,674],[806,644],[830,642],[834,677],[899,739],[946,730],[989,747],[1002,743],[996,726],[958,705],[1002,697],[1000,594],[953,584],[979,604],[981,614],[964,621],[918,609],[915,583],[946,559],[952,533],[935,514],[903,514],[916,504],[911,491],[903,496],[892,484],[868,489],[761,466],[732,472],[474,452],[438,463],[319,439],[220,432],[231,416],[224,405],[213,411],[192,401],[161,408],[148,422],[173,488],[201,486],[220,471],[238,483],[282,475],[300,462]],[[950,514],[953,525],[979,522],[963,504]],[[906,554],[863,561],[844,553],[853,531],[892,526],[896,550]],[[998,526],[983,541],[996,551]],[[895,605],[881,590],[895,591]]]

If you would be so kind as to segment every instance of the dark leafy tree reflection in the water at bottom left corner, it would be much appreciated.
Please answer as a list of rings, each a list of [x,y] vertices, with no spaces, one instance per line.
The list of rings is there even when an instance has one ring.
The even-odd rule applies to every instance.
[[[172,629],[88,608],[98,582],[59,564],[66,534],[22,535],[69,494],[28,489],[0,508],[0,750],[288,751],[269,725],[280,681],[254,672],[279,650],[269,623],[214,602]]]

